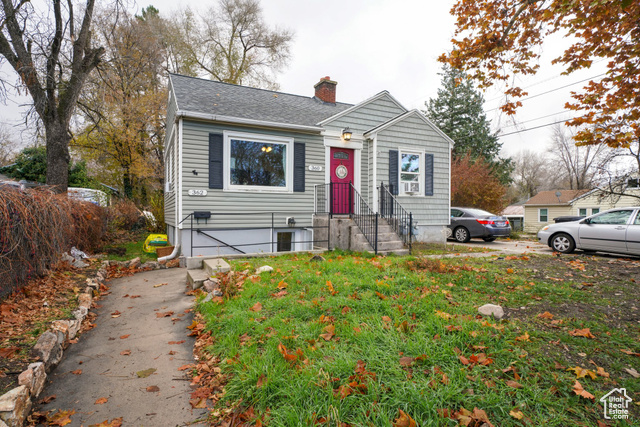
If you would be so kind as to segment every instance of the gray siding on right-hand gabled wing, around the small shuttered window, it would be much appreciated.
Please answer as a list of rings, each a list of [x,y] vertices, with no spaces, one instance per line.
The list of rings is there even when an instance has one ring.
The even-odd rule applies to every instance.
[[[418,221],[418,225],[449,222],[449,143],[416,116],[378,134],[378,181],[389,180],[389,150],[417,150],[433,154],[433,196],[398,196],[398,201]],[[421,167],[424,168],[424,157]],[[423,177],[424,181],[424,177]],[[424,182],[422,183],[424,194]]]

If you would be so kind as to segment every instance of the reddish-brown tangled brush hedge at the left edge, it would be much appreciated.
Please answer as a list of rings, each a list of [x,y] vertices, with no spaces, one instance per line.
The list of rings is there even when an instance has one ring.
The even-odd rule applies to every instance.
[[[94,251],[104,209],[49,190],[0,189],[0,298],[42,275],[72,246]]]

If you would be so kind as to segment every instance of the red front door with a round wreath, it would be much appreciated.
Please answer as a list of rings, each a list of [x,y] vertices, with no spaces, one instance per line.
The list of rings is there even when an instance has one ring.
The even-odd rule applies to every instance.
[[[354,151],[348,148],[331,148],[330,176],[334,214],[349,214],[352,211],[353,155]]]

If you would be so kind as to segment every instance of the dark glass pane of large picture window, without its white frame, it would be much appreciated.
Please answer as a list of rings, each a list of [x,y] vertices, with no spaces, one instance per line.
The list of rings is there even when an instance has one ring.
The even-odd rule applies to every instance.
[[[232,186],[287,186],[287,145],[231,138],[229,141]]]

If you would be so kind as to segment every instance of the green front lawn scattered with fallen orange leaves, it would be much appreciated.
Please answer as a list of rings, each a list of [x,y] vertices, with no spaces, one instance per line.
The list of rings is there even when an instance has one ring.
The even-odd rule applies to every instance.
[[[623,352],[640,351],[639,323],[598,308],[639,300],[638,263],[623,265],[619,286],[608,259],[325,257],[234,261],[238,272],[275,271],[236,274],[237,295],[200,304],[208,351],[229,378],[218,408],[252,408],[274,426],[391,426],[400,410],[419,426],[480,426],[484,414],[494,426],[595,426],[614,387],[640,401],[624,370],[640,358]],[[508,320],[478,316],[485,303]],[[578,381],[595,399],[574,391],[575,367],[593,372]]]

